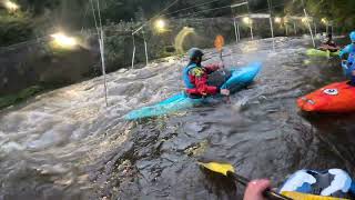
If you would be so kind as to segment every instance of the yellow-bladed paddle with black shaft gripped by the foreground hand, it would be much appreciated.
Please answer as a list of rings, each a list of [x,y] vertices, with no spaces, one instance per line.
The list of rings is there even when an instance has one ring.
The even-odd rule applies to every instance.
[[[199,162],[200,166],[202,166],[203,168],[210,170],[210,171],[214,171],[216,173],[221,173],[225,177],[229,177],[231,179],[233,179],[236,182],[242,183],[243,186],[247,186],[247,183],[250,182],[248,179],[239,176],[235,173],[235,170],[233,168],[232,164],[230,163],[217,163],[217,162],[209,162],[209,163],[203,163],[203,162]],[[267,199],[272,199],[272,200],[292,200],[288,197],[285,197],[281,193],[274,192],[272,190],[266,190],[264,192],[264,196]]]

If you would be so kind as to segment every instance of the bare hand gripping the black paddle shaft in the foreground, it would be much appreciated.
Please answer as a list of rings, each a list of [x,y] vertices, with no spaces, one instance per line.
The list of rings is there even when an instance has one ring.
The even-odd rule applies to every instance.
[[[270,180],[253,180],[245,189],[244,200],[266,200],[266,198],[263,196],[263,192],[270,188]]]

